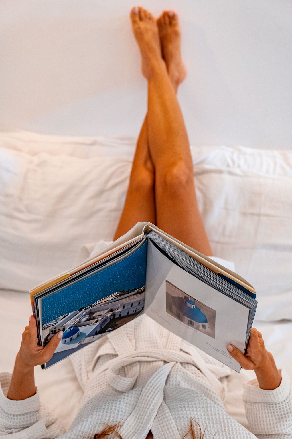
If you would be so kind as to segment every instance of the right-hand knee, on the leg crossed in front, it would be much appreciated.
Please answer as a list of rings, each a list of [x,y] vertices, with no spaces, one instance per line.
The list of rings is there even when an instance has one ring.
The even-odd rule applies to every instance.
[[[172,191],[184,191],[190,184],[193,185],[193,165],[178,162],[168,166],[162,172],[157,172],[157,184],[170,188]]]

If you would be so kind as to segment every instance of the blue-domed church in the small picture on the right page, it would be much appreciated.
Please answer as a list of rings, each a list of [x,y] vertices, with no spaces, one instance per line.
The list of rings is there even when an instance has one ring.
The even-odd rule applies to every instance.
[[[195,305],[193,299],[188,296],[172,296],[172,313],[183,323],[200,331],[208,331],[207,317],[201,309]]]

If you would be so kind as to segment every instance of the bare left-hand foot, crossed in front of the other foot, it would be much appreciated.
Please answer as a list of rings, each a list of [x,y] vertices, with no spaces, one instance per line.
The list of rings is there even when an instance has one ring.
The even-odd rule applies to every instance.
[[[160,38],[155,18],[142,7],[133,7],[130,12],[132,29],[142,57],[142,73],[148,79],[154,63],[162,60]]]

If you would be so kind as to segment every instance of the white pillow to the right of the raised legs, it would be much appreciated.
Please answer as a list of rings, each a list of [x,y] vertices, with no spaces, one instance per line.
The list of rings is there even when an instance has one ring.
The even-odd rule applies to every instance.
[[[256,320],[292,320],[292,151],[222,146],[193,158],[214,254],[257,289]]]

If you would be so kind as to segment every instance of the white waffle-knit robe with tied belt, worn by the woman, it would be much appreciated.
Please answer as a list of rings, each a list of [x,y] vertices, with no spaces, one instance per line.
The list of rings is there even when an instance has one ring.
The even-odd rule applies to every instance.
[[[93,439],[105,424],[122,423],[123,439],[180,439],[195,419],[204,439],[292,438],[292,392],[282,371],[280,386],[245,384],[243,399],[253,433],[224,410],[229,367],[177,337],[146,315],[77,351],[72,360],[84,390],[68,432],[40,407],[39,394],[6,398],[11,374],[0,374],[0,439]],[[56,389],[57,391],[57,389]]]

